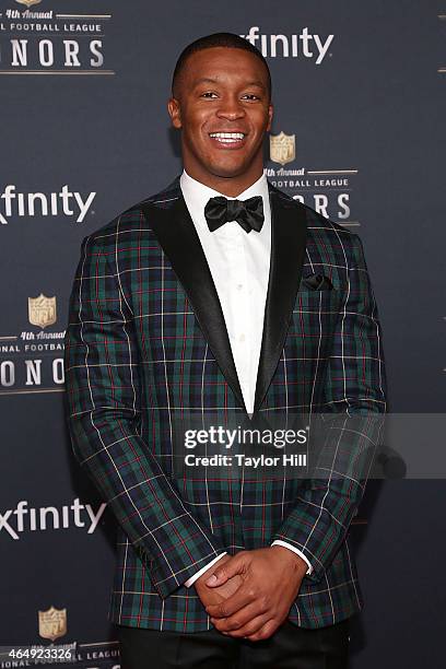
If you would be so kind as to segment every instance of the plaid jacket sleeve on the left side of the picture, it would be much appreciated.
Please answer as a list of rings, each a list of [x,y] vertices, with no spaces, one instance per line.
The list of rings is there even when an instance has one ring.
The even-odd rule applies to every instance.
[[[224,551],[185,508],[141,438],[139,352],[115,254],[87,236],[64,338],[73,453],[144,562],[161,597]]]

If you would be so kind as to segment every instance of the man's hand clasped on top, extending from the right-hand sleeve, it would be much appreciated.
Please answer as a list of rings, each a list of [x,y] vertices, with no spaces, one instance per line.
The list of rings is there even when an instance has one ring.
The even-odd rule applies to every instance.
[[[243,585],[224,601],[207,606],[212,624],[230,636],[268,638],[286,619],[307,568],[304,560],[281,545],[240,551],[215,565],[203,574],[210,589],[220,589],[237,575]]]

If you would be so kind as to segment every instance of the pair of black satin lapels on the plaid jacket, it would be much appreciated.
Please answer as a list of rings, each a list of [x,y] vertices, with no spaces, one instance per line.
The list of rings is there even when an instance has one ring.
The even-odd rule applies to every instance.
[[[304,208],[271,184],[271,261],[254,411],[278,366],[301,282],[306,243]],[[148,224],[169,259],[216,363],[245,409],[219,295],[177,178],[166,200],[141,203]],[[164,203],[166,202],[166,203]]]

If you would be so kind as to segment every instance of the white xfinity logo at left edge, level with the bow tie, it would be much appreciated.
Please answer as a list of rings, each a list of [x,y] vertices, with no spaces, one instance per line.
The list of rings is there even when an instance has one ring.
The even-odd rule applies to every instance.
[[[82,223],[94,198],[95,192],[90,192],[83,198],[80,192],[70,191],[68,185],[62,186],[60,192],[16,192],[15,186],[9,184],[0,195],[2,211],[0,211],[0,223],[8,224],[8,219],[19,216],[77,216],[75,222]]]

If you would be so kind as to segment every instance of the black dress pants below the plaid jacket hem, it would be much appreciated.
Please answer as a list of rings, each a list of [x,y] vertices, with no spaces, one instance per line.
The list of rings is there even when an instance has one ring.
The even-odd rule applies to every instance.
[[[117,625],[121,669],[348,669],[349,620],[305,630],[284,622],[259,642],[215,629],[183,634]]]

